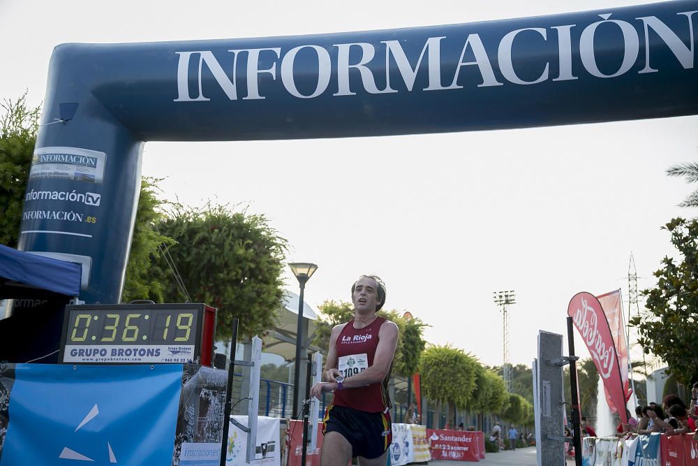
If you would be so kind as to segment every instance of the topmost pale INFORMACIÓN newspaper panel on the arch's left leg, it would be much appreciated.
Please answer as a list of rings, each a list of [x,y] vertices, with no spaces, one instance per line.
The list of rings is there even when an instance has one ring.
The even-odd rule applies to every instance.
[[[80,147],[41,147],[31,160],[29,180],[54,178],[99,184],[107,154]]]

